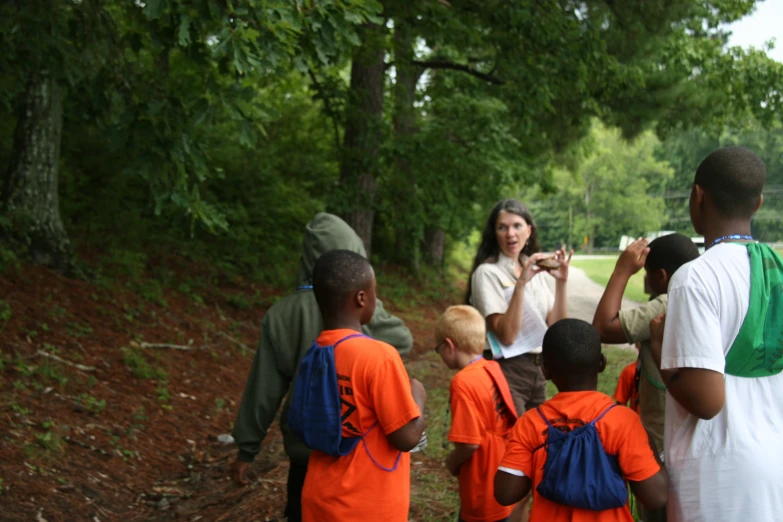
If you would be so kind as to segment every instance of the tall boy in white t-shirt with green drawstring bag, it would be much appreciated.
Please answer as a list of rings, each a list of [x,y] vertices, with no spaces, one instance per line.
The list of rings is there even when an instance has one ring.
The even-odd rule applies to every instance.
[[[758,333],[749,330],[774,333],[770,319],[783,326],[774,308],[766,324],[757,313],[783,304],[780,288],[757,298],[763,281],[779,280],[780,257],[749,244],[765,177],[761,159],[742,147],[719,149],[702,161],[690,214],[707,250],[677,271],[667,314],[650,323],[651,349],[668,392],[670,522],[783,517],[783,373],[774,359],[780,359],[779,346],[746,341]],[[763,262],[760,256],[766,256]],[[750,361],[746,370],[731,363],[738,353]]]

